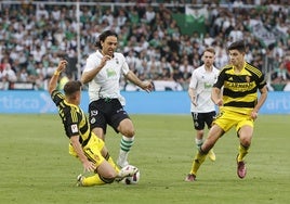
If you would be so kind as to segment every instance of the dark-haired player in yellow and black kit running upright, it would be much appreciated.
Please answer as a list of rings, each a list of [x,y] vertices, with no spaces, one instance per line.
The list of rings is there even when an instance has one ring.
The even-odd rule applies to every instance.
[[[237,175],[239,178],[245,178],[247,174],[245,156],[251,145],[254,120],[267,98],[266,80],[259,68],[245,61],[243,41],[233,42],[228,47],[228,53],[230,63],[221,71],[211,93],[211,99],[219,105],[220,113],[194,158],[186,181],[196,180],[197,171],[208,152],[232,127],[236,128],[239,138]]]

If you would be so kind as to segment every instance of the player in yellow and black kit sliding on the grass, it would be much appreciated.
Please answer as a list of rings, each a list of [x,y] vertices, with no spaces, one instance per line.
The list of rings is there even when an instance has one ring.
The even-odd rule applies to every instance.
[[[90,129],[90,123],[79,107],[81,100],[81,82],[70,80],[64,86],[64,93],[56,89],[60,74],[65,69],[67,61],[58,63],[58,67],[49,84],[52,101],[58,107],[66,136],[69,138],[69,153],[80,160],[84,171],[95,173],[90,177],[78,176],[78,186],[111,183],[132,176],[137,169],[122,169],[116,166],[108,154],[104,141]]]

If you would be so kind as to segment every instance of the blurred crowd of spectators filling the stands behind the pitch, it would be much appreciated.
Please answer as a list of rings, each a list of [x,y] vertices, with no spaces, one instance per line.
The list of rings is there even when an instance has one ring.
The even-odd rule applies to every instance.
[[[13,89],[11,85],[18,81],[31,82],[34,89],[44,90],[57,62],[64,58],[69,67],[62,80],[78,78],[87,56],[95,50],[95,40],[106,29],[117,31],[118,51],[126,55],[130,68],[142,79],[175,81],[186,90],[193,69],[202,63],[200,55],[205,48],[215,49],[215,66],[221,68],[228,62],[226,47],[243,39],[248,50],[246,60],[265,72],[269,84],[290,81],[288,0],[144,0],[127,5],[117,2],[123,1],[116,1],[114,7],[81,5],[80,29],[76,5],[29,1],[1,4],[0,89]],[[205,35],[198,31],[182,34],[173,14],[185,14],[184,3],[201,2],[206,11],[202,13]],[[167,3],[174,7],[166,7]],[[275,30],[279,37],[272,44],[263,44],[251,30],[251,25],[256,24],[268,31]],[[122,86],[124,89],[128,86],[126,80]]]

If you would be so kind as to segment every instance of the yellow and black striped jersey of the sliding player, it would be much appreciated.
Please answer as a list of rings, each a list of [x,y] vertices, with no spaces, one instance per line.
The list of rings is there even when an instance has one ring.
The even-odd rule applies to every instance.
[[[68,138],[80,136],[79,142],[84,146],[91,137],[91,131],[83,111],[78,105],[68,103],[65,100],[65,95],[57,90],[52,92],[51,98],[58,107],[58,114],[63,120],[66,136]]]

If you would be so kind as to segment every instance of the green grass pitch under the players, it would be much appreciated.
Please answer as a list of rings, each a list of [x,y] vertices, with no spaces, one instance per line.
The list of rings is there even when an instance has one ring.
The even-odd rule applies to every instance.
[[[132,115],[136,128],[130,162],[141,170],[136,186],[78,188],[82,171],[68,154],[58,115],[0,115],[0,201],[21,204],[79,203],[288,203],[289,115],[260,115],[247,156],[248,175],[236,175],[237,137],[232,130],[214,146],[197,182],[185,182],[196,148],[190,115]],[[116,160],[120,136],[106,138]]]

